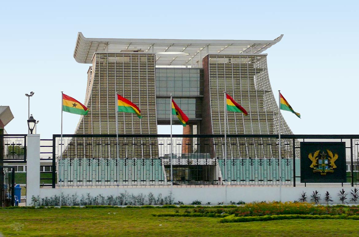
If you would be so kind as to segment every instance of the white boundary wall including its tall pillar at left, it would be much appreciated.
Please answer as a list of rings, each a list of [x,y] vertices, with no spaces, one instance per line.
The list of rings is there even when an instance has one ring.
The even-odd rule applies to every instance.
[[[87,195],[88,193],[92,197],[96,197],[101,194],[105,198],[109,195],[118,196],[125,191],[128,194],[139,195],[144,194],[148,195],[152,193],[155,197],[158,194],[162,194],[162,197],[168,196],[172,191],[172,198],[174,202],[183,202],[184,204],[190,204],[194,200],[200,200],[202,204],[210,202],[211,204],[217,204],[219,202],[225,203],[225,187],[184,187],[184,186],[173,186],[169,187],[93,187],[93,188],[73,188],[73,187],[64,187],[64,188],[41,188],[39,187],[40,183],[40,135],[31,134],[28,135],[28,150],[27,150],[27,201],[26,205],[29,206],[32,204],[32,197],[41,198],[50,198],[55,195],[59,196],[61,193],[63,195],[73,195],[77,194],[78,197],[81,195]],[[311,202],[310,195],[313,191],[317,190],[321,195],[321,202],[324,203],[325,193],[328,191],[331,195],[331,199],[334,202],[331,204],[341,203],[339,196],[337,195],[341,189],[345,190],[345,193],[348,193],[346,202],[350,202],[351,189],[354,190],[355,187],[350,187],[350,185],[345,184],[345,187],[341,187],[339,184],[307,184],[308,187],[300,184],[298,187],[282,187],[281,189],[281,201],[298,201],[301,198],[302,192],[306,192],[307,201]],[[261,201],[279,201],[279,187],[278,186],[228,186],[227,189],[227,201],[239,202],[244,201],[248,202],[261,202]]]

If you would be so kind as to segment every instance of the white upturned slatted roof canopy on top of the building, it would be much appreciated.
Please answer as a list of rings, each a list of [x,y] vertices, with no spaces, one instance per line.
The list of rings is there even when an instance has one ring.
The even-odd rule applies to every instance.
[[[186,66],[195,64],[207,54],[260,54],[282,37],[274,40],[106,39],[85,38],[79,32],[74,58],[78,63],[92,63],[95,52],[132,53],[138,50],[138,53],[156,53],[156,65]],[[158,54],[162,52],[181,52],[183,56]]]

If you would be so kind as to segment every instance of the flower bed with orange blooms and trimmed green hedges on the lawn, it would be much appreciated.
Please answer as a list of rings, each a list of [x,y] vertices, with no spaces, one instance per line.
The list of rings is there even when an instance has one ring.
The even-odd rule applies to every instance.
[[[221,222],[271,221],[279,219],[359,219],[359,207],[322,206],[299,202],[253,202],[233,208],[197,207],[184,213],[160,213],[153,216],[222,217]],[[225,217],[225,218],[224,218]]]

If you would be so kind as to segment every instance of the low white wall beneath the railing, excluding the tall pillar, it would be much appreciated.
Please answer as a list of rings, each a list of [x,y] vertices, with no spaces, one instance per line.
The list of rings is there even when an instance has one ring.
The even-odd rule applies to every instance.
[[[326,191],[328,191],[331,195],[331,199],[334,202],[332,204],[341,203],[339,200],[339,196],[337,195],[339,191],[342,189],[340,185],[336,187],[328,186],[328,187],[282,187],[282,202],[287,201],[299,201],[301,198],[302,192],[307,193],[307,201],[311,202],[310,195],[313,191],[317,190],[319,194],[321,194],[321,202],[324,202],[324,196]],[[351,189],[354,187],[344,187],[348,196],[346,199],[347,202],[350,203],[351,194],[349,193]],[[92,197],[95,197],[99,194],[103,196],[108,195],[119,195],[120,193],[124,193],[127,191],[129,194],[138,195],[143,193],[148,195],[148,193],[153,193],[156,197],[159,193],[162,194],[162,197],[169,195],[171,192],[170,187],[163,188],[42,188],[40,189],[40,198],[51,197],[54,195],[59,195],[60,192],[64,195],[77,194],[79,197],[84,194],[90,193]],[[217,204],[219,202],[225,202],[225,188],[223,187],[173,187],[172,193],[174,197],[174,202],[181,201],[185,204],[190,204],[194,200],[200,200],[202,204],[206,204],[207,202],[211,202],[211,204]],[[240,200],[248,203],[248,202],[260,202],[260,201],[279,201],[279,187],[228,187],[227,188],[227,203],[230,201],[238,202]]]

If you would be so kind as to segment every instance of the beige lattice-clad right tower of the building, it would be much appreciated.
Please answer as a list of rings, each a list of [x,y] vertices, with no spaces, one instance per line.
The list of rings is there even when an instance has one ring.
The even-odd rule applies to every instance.
[[[202,133],[224,134],[225,91],[248,112],[248,116],[227,112],[227,134],[278,134],[278,106],[269,82],[266,55],[208,55],[203,66],[204,101],[210,101],[206,117],[210,119],[204,120]],[[209,94],[206,95],[206,91]],[[283,117],[281,133],[292,134]],[[271,139],[229,139],[228,158],[278,157],[275,142]],[[214,143],[224,144],[224,140],[214,139]],[[268,144],[269,149],[262,149]],[[217,157],[223,157],[223,146],[216,149]]]

